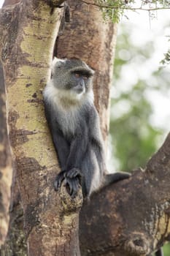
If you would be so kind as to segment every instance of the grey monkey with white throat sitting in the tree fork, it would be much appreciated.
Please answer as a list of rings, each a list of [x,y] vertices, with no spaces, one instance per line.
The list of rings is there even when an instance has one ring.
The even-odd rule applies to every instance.
[[[45,116],[61,172],[55,190],[66,184],[74,198],[80,185],[83,197],[130,176],[107,174],[104,142],[93,102],[94,71],[80,59],[53,59],[51,80],[43,97]]]

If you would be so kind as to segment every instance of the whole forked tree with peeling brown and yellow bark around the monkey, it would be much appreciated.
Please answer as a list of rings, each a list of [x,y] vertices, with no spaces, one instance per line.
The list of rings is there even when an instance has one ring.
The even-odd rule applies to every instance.
[[[50,5],[31,0],[28,6],[24,1],[2,10],[0,16],[7,28],[5,33],[4,27],[0,29],[1,56],[7,80],[9,135],[23,205],[22,219],[15,186],[9,230],[15,227],[23,247],[16,249],[16,245],[16,253],[12,252],[12,241],[1,251],[3,256],[26,255],[23,222],[28,255],[80,255],[82,194],[71,200],[65,187],[58,193],[53,190],[59,168],[45,121],[42,89],[50,78],[49,65],[63,9],[53,9],[53,1],[48,2]],[[96,70],[95,103],[106,141],[115,25],[104,23],[96,7],[68,2],[71,22],[59,33],[55,55],[82,59]],[[82,255],[149,255],[169,240],[169,140],[170,136],[145,172],[137,170],[128,180],[103,189],[84,204],[80,215]],[[19,228],[16,219],[20,219]],[[15,236],[10,239],[15,240]]]

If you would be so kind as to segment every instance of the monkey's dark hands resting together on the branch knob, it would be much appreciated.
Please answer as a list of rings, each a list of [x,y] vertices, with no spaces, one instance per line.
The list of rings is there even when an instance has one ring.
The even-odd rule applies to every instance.
[[[61,187],[62,182],[66,186],[66,189],[69,195],[74,198],[77,195],[77,192],[80,188],[80,184],[82,183],[82,175],[80,170],[77,168],[72,168],[71,170],[63,170],[55,179],[54,187],[55,190]]]

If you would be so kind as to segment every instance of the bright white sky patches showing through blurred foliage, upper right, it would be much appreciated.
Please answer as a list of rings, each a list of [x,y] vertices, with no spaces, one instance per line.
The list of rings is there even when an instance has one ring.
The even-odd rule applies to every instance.
[[[0,7],[4,0],[0,0]],[[139,3],[140,1],[138,1]],[[170,10],[159,10],[153,13],[155,18],[150,19],[148,12],[127,11],[125,16],[120,21],[119,33],[121,33],[121,24],[128,23],[131,26],[131,34],[129,39],[133,41],[135,45],[143,45],[147,41],[152,41],[155,51],[152,53],[152,58],[145,62],[140,67],[128,67],[123,70],[123,79],[121,84],[125,84],[124,90],[128,90],[128,86],[136,79],[136,75],[139,78],[148,78],[153,70],[157,70],[160,67],[160,61],[163,59],[163,53],[170,48],[170,42],[167,36],[170,35]],[[169,26],[167,26],[169,24]],[[164,29],[163,29],[164,28]],[[117,42],[118,43],[118,42]],[[127,53],[122,53],[127,54]],[[170,66],[170,65],[169,65]],[[166,67],[169,69],[170,67]],[[134,72],[135,71],[135,72]],[[129,75],[131,74],[131,75]],[[170,80],[170,79],[169,79]],[[169,86],[170,87],[170,86]],[[167,131],[169,130],[170,123],[170,89],[166,94],[160,94],[159,92],[152,92],[147,95],[152,102],[154,108],[154,115],[152,116],[152,122],[157,127],[163,127]]]

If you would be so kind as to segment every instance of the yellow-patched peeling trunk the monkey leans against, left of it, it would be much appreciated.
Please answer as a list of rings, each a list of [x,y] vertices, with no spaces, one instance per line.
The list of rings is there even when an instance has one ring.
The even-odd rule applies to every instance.
[[[63,13],[63,8],[55,8],[53,4],[62,2],[20,1],[4,7],[0,15],[9,138],[28,255],[34,256],[80,254],[78,217],[82,193],[71,200],[65,187],[58,194],[53,189],[59,168],[42,102],[42,89],[50,79],[53,46]],[[16,187],[7,246],[1,255],[26,255],[18,202]],[[20,219],[18,230],[16,219]],[[23,248],[16,248],[18,242]]]

